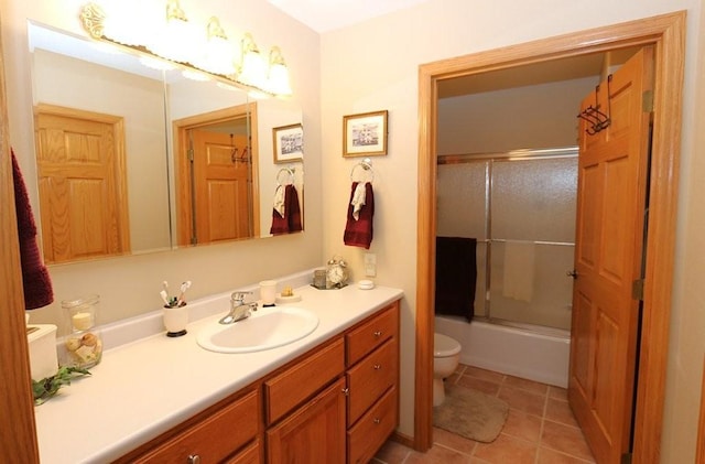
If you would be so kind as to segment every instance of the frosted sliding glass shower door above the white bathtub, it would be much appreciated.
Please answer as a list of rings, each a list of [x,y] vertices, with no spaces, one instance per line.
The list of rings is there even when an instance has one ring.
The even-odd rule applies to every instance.
[[[478,239],[476,316],[570,330],[577,150],[440,162],[437,235]]]

